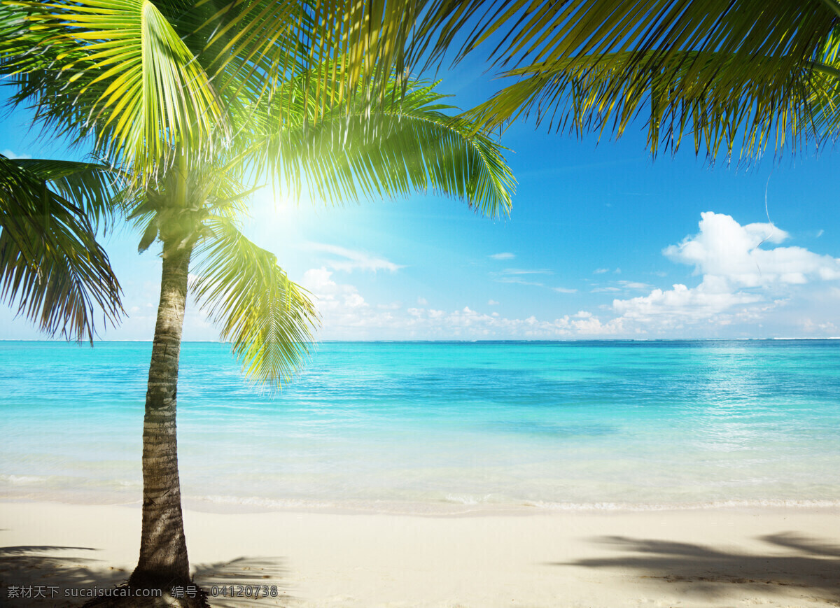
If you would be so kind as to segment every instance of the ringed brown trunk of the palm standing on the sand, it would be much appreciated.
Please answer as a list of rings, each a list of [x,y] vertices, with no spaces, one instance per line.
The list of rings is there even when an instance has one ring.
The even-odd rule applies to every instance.
[[[186,280],[192,245],[164,241],[160,305],[146,391],[143,421],[143,527],[140,558],[129,584],[165,591],[187,584],[176,442],[176,394],[181,330],[186,306]]]

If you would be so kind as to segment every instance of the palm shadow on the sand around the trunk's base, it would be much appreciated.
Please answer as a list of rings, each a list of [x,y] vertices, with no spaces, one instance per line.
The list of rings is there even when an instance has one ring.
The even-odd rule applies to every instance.
[[[97,549],[91,547],[0,547],[0,604],[15,608],[108,605],[108,599],[91,601],[89,597],[79,596],[78,591],[73,597],[66,596],[66,590],[114,589],[125,584],[129,572],[108,568],[96,558],[96,552]],[[283,558],[236,558],[228,562],[199,563],[193,566],[193,578],[203,590],[218,592],[207,598],[214,608],[287,605],[294,598],[287,592],[284,564]],[[255,599],[255,589],[263,587],[269,590],[269,595]],[[26,592],[29,597],[21,596],[24,588],[29,588]],[[273,590],[276,595],[271,595]],[[118,605],[145,608],[154,602],[148,598],[123,599]]]

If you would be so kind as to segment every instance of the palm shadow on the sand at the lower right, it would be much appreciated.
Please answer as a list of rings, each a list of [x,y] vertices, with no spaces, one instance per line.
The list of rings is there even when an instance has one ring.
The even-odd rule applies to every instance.
[[[680,594],[696,599],[736,599],[744,592],[764,591],[790,600],[840,606],[840,545],[795,532],[759,537],[772,548],[763,553],[727,552],[687,542],[631,537],[596,537],[628,553],[614,558],[551,562],[554,566],[638,571],[643,579],[659,579]]]

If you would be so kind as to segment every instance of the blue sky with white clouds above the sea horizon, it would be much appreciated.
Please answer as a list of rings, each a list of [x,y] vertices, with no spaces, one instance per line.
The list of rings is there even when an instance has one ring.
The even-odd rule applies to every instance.
[[[438,89],[471,107],[496,88],[484,71],[462,64]],[[77,157],[28,121],[3,121],[0,153]],[[747,169],[710,168],[686,141],[654,161],[643,129],[600,144],[508,129],[510,218],[423,193],[328,208],[267,188],[245,232],[318,296],[325,340],[840,336],[840,154],[770,149]],[[160,259],[138,241],[129,229],[104,240],[129,312],[104,339],[152,337]],[[5,307],[0,328],[40,338]],[[184,337],[218,337],[192,301]]]

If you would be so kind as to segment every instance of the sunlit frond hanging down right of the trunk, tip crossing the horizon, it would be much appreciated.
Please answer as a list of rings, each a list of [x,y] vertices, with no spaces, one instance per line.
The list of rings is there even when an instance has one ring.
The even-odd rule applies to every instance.
[[[192,293],[221,328],[221,338],[232,343],[244,372],[277,387],[291,380],[309,353],[318,313],[274,254],[251,243],[226,218],[207,227]]]

